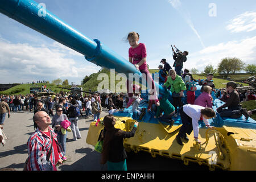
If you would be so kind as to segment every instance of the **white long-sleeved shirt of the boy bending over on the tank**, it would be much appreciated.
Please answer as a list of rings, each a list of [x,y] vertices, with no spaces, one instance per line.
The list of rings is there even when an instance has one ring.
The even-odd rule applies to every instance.
[[[199,134],[199,125],[198,121],[201,118],[201,109],[205,109],[205,107],[197,106],[197,105],[191,105],[187,104],[183,106],[183,111],[186,113],[189,117],[192,118],[192,126],[194,131],[194,137],[198,137]],[[203,121],[205,125],[209,125],[208,119],[205,119],[203,117]]]

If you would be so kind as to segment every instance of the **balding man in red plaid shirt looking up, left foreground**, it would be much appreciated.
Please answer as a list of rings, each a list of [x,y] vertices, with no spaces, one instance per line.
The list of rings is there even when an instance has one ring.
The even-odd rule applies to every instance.
[[[46,171],[52,169],[56,171],[56,164],[62,164],[64,153],[60,144],[57,142],[57,134],[49,127],[52,123],[51,118],[45,111],[38,111],[35,113],[33,119],[38,125],[38,129],[31,135],[27,142],[27,170]],[[50,165],[48,165],[46,156],[51,151],[51,146]],[[49,166],[51,167],[49,168]]]

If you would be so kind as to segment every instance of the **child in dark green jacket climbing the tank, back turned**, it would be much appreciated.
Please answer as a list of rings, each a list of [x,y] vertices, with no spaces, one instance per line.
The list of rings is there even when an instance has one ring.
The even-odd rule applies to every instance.
[[[160,98],[160,105],[157,107],[156,115],[154,116],[154,118],[159,118],[159,121],[173,125],[174,120],[172,119],[172,115],[175,114],[175,107],[171,104],[170,101],[168,101],[169,95],[170,93],[166,89],[166,92],[164,93],[162,98]],[[159,117],[161,110],[164,111],[164,115]]]

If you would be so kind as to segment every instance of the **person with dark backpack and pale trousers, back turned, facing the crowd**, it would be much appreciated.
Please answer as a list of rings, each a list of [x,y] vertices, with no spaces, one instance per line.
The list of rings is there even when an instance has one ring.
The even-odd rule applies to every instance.
[[[73,140],[76,141],[77,139],[82,138],[79,127],[77,125],[78,117],[81,114],[79,105],[77,104],[75,98],[72,98],[71,100],[71,106],[68,108],[67,114],[68,114],[68,120],[71,122],[71,130],[73,133]]]

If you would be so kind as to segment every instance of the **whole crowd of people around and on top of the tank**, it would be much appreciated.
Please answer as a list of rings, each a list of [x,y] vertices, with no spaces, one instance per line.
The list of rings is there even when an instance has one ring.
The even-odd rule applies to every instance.
[[[90,115],[94,121],[100,118],[102,106],[109,110],[109,115],[104,117],[105,130],[101,153],[101,163],[108,163],[109,170],[127,170],[127,155],[123,148],[123,139],[133,137],[139,125],[138,122],[135,122],[130,132],[115,129],[113,113],[117,109],[125,111],[125,108],[132,106],[131,112],[137,121],[142,120],[146,112],[150,112],[154,115],[154,118],[169,125],[173,125],[174,117],[180,115],[183,125],[176,135],[176,142],[180,145],[183,145],[184,141],[185,143],[188,142],[188,135],[192,131],[196,142],[200,143],[198,138],[199,121],[203,121],[205,126],[213,129],[213,126],[210,126],[208,122],[208,119],[216,116],[216,112],[212,109],[212,92],[219,94],[217,96],[225,102],[217,109],[217,112],[223,117],[237,118],[243,114],[247,119],[253,112],[241,107],[240,101],[243,96],[242,93],[238,94],[236,91],[236,83],[228,82],[226,90],[221,90],[221,94],[218,93],[213,84],[213,74],[208,74],[204,80],[199,79],[199,85],[202,85],[202,93],[196,98],[195,80],[188,69],[182,71],[183,63],[187,61],[188,51],[181,52],[177,49],[175,52],[173,48],[174,69],[171,68],[166,59],[160,61],[164,64],[164,67],[159,65],[159,84],[163,86],[165,92],[158,98],[154,81],[146,64],[145,45],[139,43],[137,32],[130,32],[127,41],[131,46],[129,48],[130,63],[134,64],[135,68],[141,73],[147,75],[147,82],[152,82],[152,88],[148,89],[149,97],[146,99],[148,102],[147,108],[139,107],[143,100],[141,94],[135,92],[139,89],[139,86],[134,85],[133,90],[130,90],[131,87],[128,81],[127,96],[125,94],[107,94],[103,98],[98,93],[86,94],[84,97],[77,96],[77,94],[73,96],[68,93],[60,93],[41,97],[40,100],[33,94],[0,97],[2,101],[0,102],[0,108],[6,107],[6,113],[10,114],[10,111],[17,112],[21,110],[34,111],[33,120],[36,131],[28,139],[28,158],[24,170],[56,170],[57,164],[62,164],[64,160],[67,160],[65,154],[67,131],[72,131],[74,141],[82,137],[77,125],[79,117],[83,117],[81,110],[85,111],[85,118],[89,118]],[[184,92],[187,93],[187,104],[184,104],[182,100]],[[170,93],[172,103],[168,100]],[[245,100],[253,98],[255,100],[255,94],[252,92],[245,93]],[[10,109],[7,107],[10,107]],[[225,107],[228,107],[228,109],[225,109]],[[56,111],[56,114],[53,113],[53,110]],[[3,124],[2,120],[1,123]],[[52,127],[49,127],[50,125]],[[40,152],[43,148],[47,153],[47,155],[44,155],[47,157],[47,162],[44,163],[38,160],[43,155]]]

